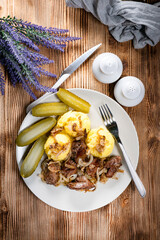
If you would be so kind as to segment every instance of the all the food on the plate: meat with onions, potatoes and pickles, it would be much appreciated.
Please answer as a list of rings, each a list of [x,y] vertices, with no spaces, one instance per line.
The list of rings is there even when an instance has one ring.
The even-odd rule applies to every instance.
[[[59,95],[61,92],[63,94]],[[70,92],[60,89],[58,96],[69,98]],[[77,99],[77,96],[72,94]],[[72,107],[89,112],[90,104],[78,99],[77,106]],[[86,108],[84,108],[84,106]],[[87,108],[88,107],[88,108]],[[64,184],[70,189],[94,191],[96,182],[105,183],[114,176],[122,165],[120,156],[110,156],[114,147],[111,133],[100,126],[90,128],[90,119],[86,113],[68,109],[65,103],[43,103],[32,109],[34,116],[60,115],[55,118],[43,119],[17,137],[17,144],[30,144],[34,140],[31,150],[21,166],[21,176],[29,177],[36,169],[44,151],[47,155],[41,164],[41,179],[47,184],[59,186]],[[56,124],[56,126],[55,126]],[[55,126],[49,136],[46,133]],[[34,136],[35,135],[35,136]],[[26,143],[25,143],[26,142]]]

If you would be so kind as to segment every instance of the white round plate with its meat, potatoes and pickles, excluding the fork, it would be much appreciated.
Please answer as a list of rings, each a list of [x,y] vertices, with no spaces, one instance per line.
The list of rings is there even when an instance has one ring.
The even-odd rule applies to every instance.
[[[93,210],[113,201],[131,181],[98,111],[105,102],[118,119],[120,136],[136,168],[134,125],[114,100],[99,92],[60,89],[22,122],[16,139],[20,174],[28,188],[50,206]]]

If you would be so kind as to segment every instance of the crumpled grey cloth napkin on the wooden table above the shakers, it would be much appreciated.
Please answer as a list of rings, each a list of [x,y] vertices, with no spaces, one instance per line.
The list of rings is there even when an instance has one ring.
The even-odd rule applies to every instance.
[[[69,7],[84,8],[108,25],[118,42],[133,39],[135,48],[160,41],[160,2],[151,5],[120,0],[66,0]]]

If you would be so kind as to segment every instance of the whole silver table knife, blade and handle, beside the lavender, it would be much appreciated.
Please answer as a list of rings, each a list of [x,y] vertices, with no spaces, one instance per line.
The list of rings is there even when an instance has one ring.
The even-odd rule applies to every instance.
[[[67,68],[64,69],[60,78],[53,85],[52,88],[57,89],[82,63],[84,63],[102,44],[98,44],[88,51],[83,53],[80,57],[78,57],[73,63],[71,63]],[[41,103],[44,99],[46,99],[52,93],[45,93],[43,96],[29,104],[26,108],[26,112],[28,113],[34,106]]]

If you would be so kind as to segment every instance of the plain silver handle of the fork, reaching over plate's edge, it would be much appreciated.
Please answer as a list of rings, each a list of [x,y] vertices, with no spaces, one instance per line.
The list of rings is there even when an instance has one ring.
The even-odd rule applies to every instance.
[[[120,143],[120,142],[119,142],[118,144],[119,144],[120,149],[121,149],[121,151],[122,151],[122,153],[123,153],[124,160],[125,160],[125,162],[126,162],[126,164],[127,164],[127,166],[128,166],[129,172],[130,172],[130,174],[131,174],[131,176],[132,176],[132,179],[133,179],[133,181],[134,181],[134,183],[135,183],[135,185],[136,185],[136,187],[137,187],[137,189],[138,189],[138,192],[139,192],[139,194],[141,195],[141,197],[144,198],[145,195],[146,195],[146,189],[145,189],[142,181],[140,180],[138,174],[137,174],[136,171],[134,170],[134,168],[133,168],[133,166],[132,166],[132,163],[131,163],[131,161],[130,161],[130,159],[129,159],[129,157],[128,157],[128,155],[127,155],[127,153],[126,153],[126,151],[125,151],[125,149],[124,149],[124,147],[123,147],[123,144]]]

